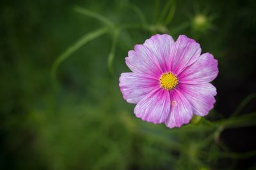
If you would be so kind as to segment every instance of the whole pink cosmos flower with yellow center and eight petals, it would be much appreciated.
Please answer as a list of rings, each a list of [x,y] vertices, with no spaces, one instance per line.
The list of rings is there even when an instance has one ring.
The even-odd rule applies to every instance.
[[[119,86],[124,99],[136,104],[136,117],[173,128],[213,108],[217,92],[209,82],[218,74],[218,61],[201,54],[195,40],[156,34],[135,45],[125,62],[132,73],[122,73]]]

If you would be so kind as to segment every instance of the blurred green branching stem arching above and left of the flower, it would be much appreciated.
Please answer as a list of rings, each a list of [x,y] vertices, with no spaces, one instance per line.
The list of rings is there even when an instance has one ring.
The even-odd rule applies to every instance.
[[[102,36],[103,34],[109,32],[109,34],[112,35],[112,45],[111,50],[108,55],[108,69],[111,74],[113,74],[113,67],[112,62],[115,58],[115,49],[116,49],[116,42],[118,41],[118,35],[119,32],[124,29],[144,29],[145,31],[150,31],[152,33],[156,32],[168,32],[168,28],[166,27],[173,19],[173,16],[175,14],[175,0],[167,1],[166,4],[164,4],[164,9],[161,11],[159,15],[159,1],[156,1],[156,9],[154,11],[154,20],[153,24],[149,25],[148,21],[144,15],[144,13],[138,8],[138,6],[134,4],[129,5],[131,10],[133,10],[138,17],[141,20],[141,24],[125,24],[125,23],[114,23],[108,18],[99,15],[98,13],[95,13],[90,10],[86,10],[84,8],[81,8],[79,6],[76,6],[74,10],[77,13],[81,13],[83,15],[86,15],[87,17],[95,18],[96,20],[99,20],[99,22],[102,22],[104,27],[97,31],[93,31],[90,33],[85,34],[79,41],[77,41],[74,45],[70,46],[64,53],[56,59],[52,66],[52,78],[53,80],[56,78],[56,69],[58,68],[59,64],[63,62],[65,59],[67,59],[72,53],[76,52],[81,46],[85,45],[89,41],[92,41],[93,39]]]

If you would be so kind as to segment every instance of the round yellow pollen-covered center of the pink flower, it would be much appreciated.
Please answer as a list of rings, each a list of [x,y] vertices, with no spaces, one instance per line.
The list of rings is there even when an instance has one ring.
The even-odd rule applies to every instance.
[[[178,84],[178,79],[172,72],[163,73],[159,78],[160,85],[163,89],[171,90],[174,89]]]

